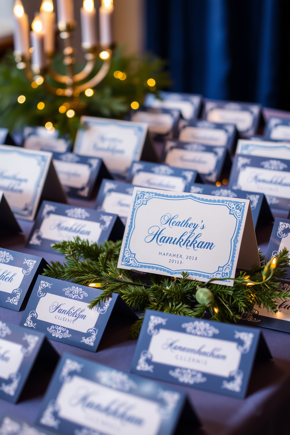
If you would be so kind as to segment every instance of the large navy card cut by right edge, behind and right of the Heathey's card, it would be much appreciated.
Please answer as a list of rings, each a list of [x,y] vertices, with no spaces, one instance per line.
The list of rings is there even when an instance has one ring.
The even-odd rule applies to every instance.
[[[228,185],[234,190],[263,193],[271,208],[288,211],[290,160],[236,154]]]

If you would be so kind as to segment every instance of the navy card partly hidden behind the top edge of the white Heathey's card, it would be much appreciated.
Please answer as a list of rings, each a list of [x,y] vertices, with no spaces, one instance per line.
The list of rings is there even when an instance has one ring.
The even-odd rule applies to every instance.
[[[143,161],[133,162],[126,177],[126,181],[134,186],[175,192],[187,191],[196,179],[197,171]]]

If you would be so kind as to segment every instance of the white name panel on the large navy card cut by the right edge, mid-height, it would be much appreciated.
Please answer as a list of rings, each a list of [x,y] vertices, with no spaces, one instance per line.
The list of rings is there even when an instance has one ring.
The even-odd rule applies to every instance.
[[[290,198],[290,172],[246,166],[239,172],[239,189]]]

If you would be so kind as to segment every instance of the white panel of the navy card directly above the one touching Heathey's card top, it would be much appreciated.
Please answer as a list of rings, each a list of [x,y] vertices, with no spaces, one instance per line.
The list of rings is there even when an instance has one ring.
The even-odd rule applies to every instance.
[[[165,163],[169,166],[193,169],[200,174],[210,174],[217,166],[217,154],[172,148],[166,154]]]

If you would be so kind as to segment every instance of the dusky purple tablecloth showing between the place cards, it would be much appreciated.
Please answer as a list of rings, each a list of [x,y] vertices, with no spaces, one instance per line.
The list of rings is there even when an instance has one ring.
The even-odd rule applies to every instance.
[[[283,113],[290,117],[289,113]],[[279,116],[277,110],[268,110],[265,118]],[[70,199],[71,205],[93,208],[95,200],[82,201]],[[273,211],[275,217],[287,218],[283,211]],[[1,239],[1,248],[27,252],[41,256],[47,261],[61,260],[58,254],[33,251],[24,247],[33,222],[19,220],[23,234],[16,234]],[[270,239],[272,224],[263,224],[257,228],[257,243],[260,250],[266,253]],[[23,311],[17,312],[0,308],[0,320],[18,325]],[[136,340],[128,340],[130,325],[123,325],[110,331],[105,331],[97,352],[91,352],[70,345],[49,340],[59,355],[69,352],[91,361],[97,361],[110,367],[130,372]],[[192,387],[178,388],[185,391],[201,422],[200,432],[208,435],[239,435],[239,434],[289,434],[287,429],[287,402],[290,399],[290,334],[262,329],[273,360],[259,362],[253,368],[248,395],[245,399],[230,397],[202,391]],[[289,330],[290,332],[290,330]],[[164,382],[164,384],[166,384]],[[170,384],[167,384],[168,386]],[[30,395],[31,396],[31,395]],[[0,399],[0,417],[4,412],[34,423],[40,408],[42,396],[23,398],[17,405]]]

